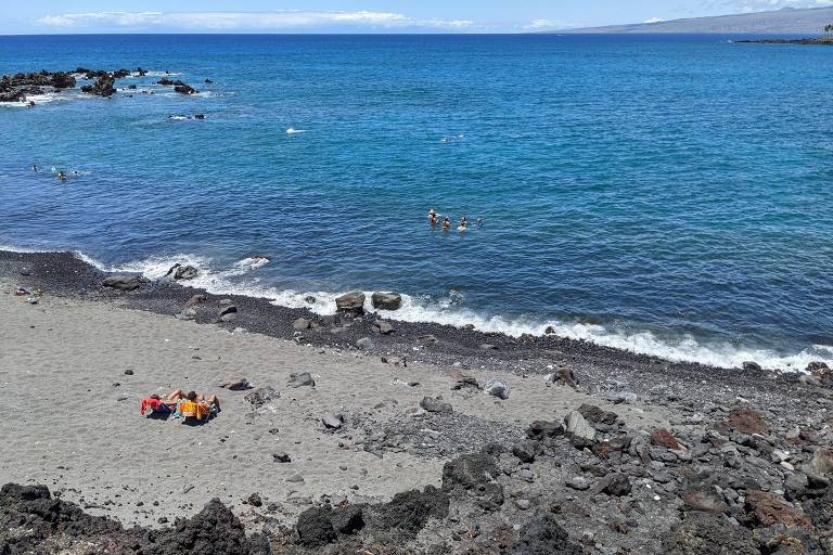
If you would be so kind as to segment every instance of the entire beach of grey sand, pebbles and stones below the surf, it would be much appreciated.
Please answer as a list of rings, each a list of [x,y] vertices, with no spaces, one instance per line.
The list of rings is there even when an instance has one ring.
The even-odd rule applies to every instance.
[[[261,546],[266,538],[271,553],[487,554],[503,545],[520,554],[539,540],[548,553],[689,553],[678,547],[692,534],[726,545],[731,533],[719,527],[728,519],[740,530],[759,526],[747,516],[754,507],[738,499],[720,501],[722,516],[692,513],[691,492],[707,483],[747,499],[753,490],[778,500],[786,491],[785,506],[818,521],[811,545],[830,539],[817,498],[787,487],[791,476],[830,483],[826,467],[812,466],[833,439],[826,378],[670,363],[586,341],[514,339],[438,324],[392,321],[396,332],[385,336],[373,333],[371,314],[338,322],[338,328],[350,325],[332,333],[321,317],[268,299],[175,283],[111,291],[101,286],[104,278],[67,253],[0,251],[0,383],[27,406],[22,416],[3,418],[0,481],[47,485],[62,503],[162,534],[178,518],[197,526],[205,515],[194,515],[206,503],[220,511],[209,503],[219,498],[231,508],[228,518],[239,519],[238,531],[255,533]],[[13,294],[17,286],[43,294],[29,304]],[[195,320],[174,318],[193,295],[206,297]],[[218,322],[221,299],[238,308],[233,321]],[[298,318],[318,319],[322,327],[295,330]],[[428,334],[436,341],[420,339]],[[356,348],[361,337],[374,347]],[[575,375],[575,387],[546,383],[546,374],[565,371]],[[316,386],[287,386],[298,372],[310,372]],[[499,400],[465,384],[456,389],[460,373],[480,388],[500,379],[511,393]],[[241,377],[280,396],[254,406],[245,399],[249,391],[219,388]],[[136,414],[141,397],[176,387],[218,393],[222,412],[196,428]],[[339,428],[321,424],[329,413],[339,414]],[[556,423],[572,414],[591,423],[595,439],[558,431]],[[535,431],[547,422],[552,436]],[[806,433],[792,436],[794,429]],[[772,455],[782,450],[784,461]],[[278,451],[292,461],[273,460]],[[462,476],[471,476],[463,468],[473,461],[502,472],[470,490]],[[406,491],[410,496],[396,495]],[[28,511],[15,495],[0,494],[0,520]],[[413,527],[384,525],[386,512],[434,502],[439,508]],[[310,540],[310,520],[319,526],[350,507],[363,512],[361,531]],[[535,527],[546,533],[534,533]],[[54,534],[69,544],[127,535],[143,544],[153,538],[141,532],[136,539],[145,528],[102,532],[90,525]],[[752,542],[748,535],[744,541]],[[11,540],[0,532],[3,541]],[[255,548],[254,539],[228,550],[212,541],[216,553],[270,552]]]

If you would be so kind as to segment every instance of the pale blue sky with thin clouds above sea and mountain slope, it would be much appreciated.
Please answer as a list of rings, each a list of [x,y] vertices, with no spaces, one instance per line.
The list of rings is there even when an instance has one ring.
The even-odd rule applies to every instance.
[[[833,0],[24,0],[0,34],[527,33],[833,5]]]

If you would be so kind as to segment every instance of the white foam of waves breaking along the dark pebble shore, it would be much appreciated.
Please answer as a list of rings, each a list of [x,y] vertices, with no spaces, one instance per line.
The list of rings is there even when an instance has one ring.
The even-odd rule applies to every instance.
[[[202,287],[218,295],[267,298],[274,305],[308,308],[321,315],[335,313],[335,299],[344,293],[278,289],[264,284],[257,276],[247,275],[269,263],[269,259],[265,257],[248,257],[230,267],[217,268],[212,259],[194,255],[154,257],[117,267],[106,267],[81,253],[76,253],[76,256],[105,271],[142,273],[153,280],[163,279],[176,262],[191,264],[200,270],[200,274],[194,280],[188,281],[188,285]],[[364,308],[372,311],[372,292],[368,291],[364,294],[367,296]],[[316,298],[315,304],[307,302],[306,299],[309,296]],[[688,334],[666,339],[649,331],[633,333],[581,322],[486,315],[465,308],[464,302],[463,295],[454,291],[438,299],[402,295],[402,305],[399,310],[379,312],[384,318],[406,322],[434,322],[452,326],[471,324],[480,332],[499,332],[513,337],[522,334],[540,336],[551,327],[555,335],[571,339],[585,339],[597,345],[656,356],[671,361],[700,362],[714,366],[741,367],[745,361],[755,361],[769,370],[800,372],[813,361],[833,365],[833,346],[829,345],[813,345],[800,352],[784,354],[770,349],[744,348],[728,343],[704,344]]]

